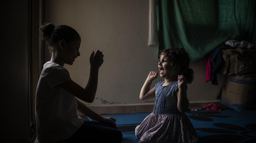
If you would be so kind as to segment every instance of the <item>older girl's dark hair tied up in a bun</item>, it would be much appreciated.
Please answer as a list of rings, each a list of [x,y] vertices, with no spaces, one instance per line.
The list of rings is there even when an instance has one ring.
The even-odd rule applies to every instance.
[[[81,40],[77,31],[67,25],[55,26],[52,23],[44,23],[40,27],[40,31],[42,32],[42,40],[46,40],[50,53],[56,50],[54,47],[62,39],[67,43],[70,41]]]

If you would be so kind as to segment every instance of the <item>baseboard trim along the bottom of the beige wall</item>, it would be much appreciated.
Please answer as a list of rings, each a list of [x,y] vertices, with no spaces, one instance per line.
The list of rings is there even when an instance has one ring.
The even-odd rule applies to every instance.
[[[220,104],[216,101],[199,101],[191,102],[191,107],[203,107],[209,103]],[[140,112],[152,112],[154,109],[154,103],[149,104],[129,104],[129,105],[105,105],[105,106],[88,106],[91,110],[98,114],[125,114],[125,113],[140,113]],[[78,115],[82,115],[78,112]]]

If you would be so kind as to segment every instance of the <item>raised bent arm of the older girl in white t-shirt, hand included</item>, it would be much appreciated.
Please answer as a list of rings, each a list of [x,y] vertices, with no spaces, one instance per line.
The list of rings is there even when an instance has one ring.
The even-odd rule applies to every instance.
[[[64,82],[60,86],[85,102],[93,102],[98,86],[99,68],[103,63],[103,56],[104,55],[99,50],[97,50],[95,54],[92,52],[90,56],[90,76],[85,88],[72,80]]]

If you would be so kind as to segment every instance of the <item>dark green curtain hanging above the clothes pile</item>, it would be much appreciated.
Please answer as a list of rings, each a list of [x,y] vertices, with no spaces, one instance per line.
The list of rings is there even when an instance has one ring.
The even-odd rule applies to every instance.
[[[185,48],[191,62],[228,40],[256,41],[255,0],[158,0],[159,49]]]

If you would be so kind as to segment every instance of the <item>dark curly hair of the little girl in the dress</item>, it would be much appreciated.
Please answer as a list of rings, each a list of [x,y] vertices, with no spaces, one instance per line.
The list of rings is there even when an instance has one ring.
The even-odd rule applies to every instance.
[[[194,71],[189,67],[191,58],[184,48],[170,47],[165,50],[160,50],[158,59],[164,55],[167,62],[170,65],[170,75],[178,77],[178,75],[184,75],[187,79],[187,83],[190,84],[194,80]]]

